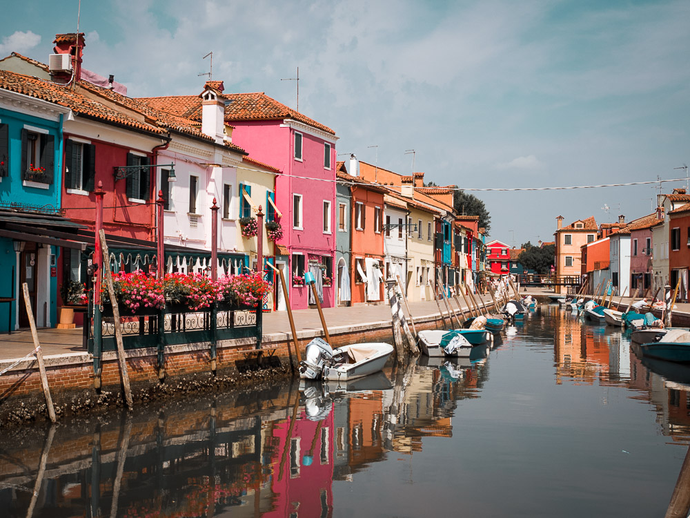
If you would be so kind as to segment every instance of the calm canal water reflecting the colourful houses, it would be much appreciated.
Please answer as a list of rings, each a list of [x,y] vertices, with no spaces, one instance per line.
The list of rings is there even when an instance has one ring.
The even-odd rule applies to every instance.
[[[472,363],[2,431],[0,515],[686,517],[689,390],[542,305]]]

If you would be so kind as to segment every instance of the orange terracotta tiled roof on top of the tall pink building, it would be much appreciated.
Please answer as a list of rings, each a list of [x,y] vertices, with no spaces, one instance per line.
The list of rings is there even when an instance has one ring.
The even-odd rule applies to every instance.
[[[228,99],[225,107],[226,121],[295,119],[313,128],[335,135],[328,126],[316,122],[289,106],[277,102],[263,92],[224,93]],[[153,108],[201,121],[201,99],[197,95],[173,95],[168,97],[139,97]]]

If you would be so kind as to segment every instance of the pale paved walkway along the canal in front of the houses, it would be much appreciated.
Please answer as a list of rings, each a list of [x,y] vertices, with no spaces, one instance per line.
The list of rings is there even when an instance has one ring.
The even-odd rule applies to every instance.
[[[552,291],[545,289],[529,289],[524,292],[533,295],[550,295]],[[521,292],[522,295],[522,292]],[[475,296],[476,297],[476,296]],[[458,298],[462,307],[462,298]],[[623,299],[623,304],[629,302],[629,298]],[[485,303],[491,303],[491,297],[484,296]],[[618,303],[618,298],[614,299]],[[445,311],[444,303],[440,301],[443,311]],[[453,310],[457,311],[455,303],[451,302]],[[677,311],[682,311],[690,314],[690,304],[676,304]],[[433,300],[410,303],[410,311],[415,318],[424,316],[437,316],[438,307]],[[405,310],[407,314],[407,311]],[[320,330],[321,320],[319,319],[319,312],[315,309],[298,309],[293,311],[295,318],[295,327],[297,332],[309,331],[313,329]],[[329,328],[346,326],[350,324],[362,325],[368,322],[380,322],[382,320],[391,320],[391,308],[387,304],[382,305],[357,305],[354,307],[327,307],[324,308],[324,318],[326,318],[326,325]],[[271,312],[264,314],[264,334],[273,333],[290,333],[290,322],[288,320],[287,311]],[[82,347],[82,329],[39,329],[39,342],[43,354],[70,354],[83,353]],[[0,335],[0,360],[7,360],[10,358],[21,358],[22,356],[32,352],[33,340],[29,329],[20,329],[12,332],[12,334]]]

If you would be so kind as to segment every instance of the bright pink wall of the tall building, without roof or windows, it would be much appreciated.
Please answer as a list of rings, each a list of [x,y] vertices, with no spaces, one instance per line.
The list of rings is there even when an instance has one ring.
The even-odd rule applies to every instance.
[[[294,131],[275,121],[233,121],[233,144],[255,160],[280,169],[276,178],[275,202],[282,213],[283,238],[277,244],[309,256],[330,256],[335,267],[335,146],[331,144],[331,169],[324,169],[324,141],[302,133],[302,161],[294,158]],[[301,178],[295,178],[301,177]],[[314,181],[312,179],[317,179]],[[331,181],[322,181],[331,180]],[[302,194],[302,230],[293,229],[293,193]],[[323,203],[331,202],[331,233],[324,233]],[[293,271],[290,257],[290,272]],[[331,271],[333,274],[333,271]],[[308,307],[308,290],[293,287],[290,279],[290,305]],[[333,307],[335,289],[324,287],[324,307]]]

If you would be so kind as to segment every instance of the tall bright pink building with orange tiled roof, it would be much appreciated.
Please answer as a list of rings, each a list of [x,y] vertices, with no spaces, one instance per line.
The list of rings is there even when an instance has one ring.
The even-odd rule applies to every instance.
[[[313,304],[304,285],[306,271],[316,278],[319,298],[332,307],[335,286],[335,131],[264,93],[225,94],[226,133],[233,144],[260,162],[282,171],[275,180],[275,204],[283,238],[276,244],[275,265],[283,270],[290,305]],[[201,98],[186,95],[149,97],[147,104],[201,122]],[[277,307],[282,296],[277,296]]]

